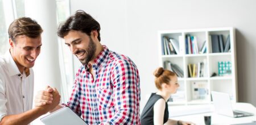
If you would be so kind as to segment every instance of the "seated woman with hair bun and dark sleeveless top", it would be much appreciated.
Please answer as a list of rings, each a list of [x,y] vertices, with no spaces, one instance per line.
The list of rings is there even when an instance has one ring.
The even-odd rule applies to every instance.
[[[169,119],[167,101],[171,94],[176,93],[179,83],[177,76],[170,70],[164,70],[162,67],[154,72],[155,85],[158,88],[157,93],[152,93],[144,107],[141,115],[141,124],[194,124],[191,122],[184,122],[181,120]]]

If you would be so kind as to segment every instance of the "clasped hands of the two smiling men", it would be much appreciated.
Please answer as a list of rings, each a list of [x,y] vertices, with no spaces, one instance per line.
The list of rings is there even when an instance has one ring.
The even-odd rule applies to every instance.
[[[56,88],[52,88],[47,86],[45,90],[38,91],[35,97],[35,107],[40,108],[45,113],[48,111],[52,112],[55,111],[60,103],[60,94]]]

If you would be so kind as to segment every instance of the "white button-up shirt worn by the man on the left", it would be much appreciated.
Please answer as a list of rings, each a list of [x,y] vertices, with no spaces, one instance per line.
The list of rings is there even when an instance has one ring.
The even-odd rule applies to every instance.
[[[0,121],[6,115],[24,113],[32,109],[34,72],[20,74],[8,51],[0,56]]]

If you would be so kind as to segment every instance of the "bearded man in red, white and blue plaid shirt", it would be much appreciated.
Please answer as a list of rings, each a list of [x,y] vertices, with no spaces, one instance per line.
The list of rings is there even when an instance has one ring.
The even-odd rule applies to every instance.
[[[88,124],[141,124],[137,66],[101,45],[100,24],[79,10],[61,24],[58,35],[82,63],[67,106]],[[44,101],[37,98],[35,103],[42,106]]]

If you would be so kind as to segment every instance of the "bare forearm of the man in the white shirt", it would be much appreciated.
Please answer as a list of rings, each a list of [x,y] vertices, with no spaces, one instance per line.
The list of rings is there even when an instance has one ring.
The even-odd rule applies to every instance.
[[[35,107],[32,110],[26,111],[25,113],[22,114],[16,114],[16,115],[7,115],[2,118],[0,125],[13,125],[13,124],[19,124],[19,125],[27,125],[31,123],[33,120],[38,118],[39,116],[46,114],[47,112],[40,108],[40,107]]]

